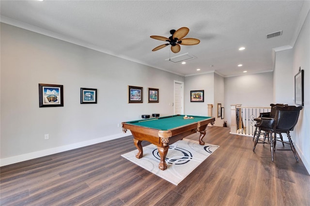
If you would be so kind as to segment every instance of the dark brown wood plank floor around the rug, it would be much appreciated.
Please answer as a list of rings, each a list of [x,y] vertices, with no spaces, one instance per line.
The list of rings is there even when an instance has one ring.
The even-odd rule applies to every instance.
[[[3,166],[0,205],[310,206],[310,176],[292,151],[272,162],[269,145],[253,152],[252,138],[229,132],[208,127],[204,140],[220,147],[178,186],[121,157],[136,149],[132,136]]]

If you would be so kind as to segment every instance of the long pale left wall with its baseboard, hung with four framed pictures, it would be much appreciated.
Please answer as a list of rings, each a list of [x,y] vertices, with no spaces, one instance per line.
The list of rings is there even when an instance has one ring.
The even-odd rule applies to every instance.
[[[3,23],[0,37],[1,166],[122,137],[118,124],[142,114],[172,115],[173,81],[184,82]],[[63,85],[64,106],[39,108],[38,83]],[[143,103],[127,103],[128,85],[143,87]],[[159,88],[159,103],[147,103],[148,87]],[[97,88],[97,104],[80,104],[80,88]]]

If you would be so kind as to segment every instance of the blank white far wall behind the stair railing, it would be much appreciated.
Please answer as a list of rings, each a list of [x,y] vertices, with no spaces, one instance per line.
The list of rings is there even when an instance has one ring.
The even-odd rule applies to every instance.
[[[231,104],[270,107],[273,101],[273,73],[225,78],[225,120],[231,125]]]

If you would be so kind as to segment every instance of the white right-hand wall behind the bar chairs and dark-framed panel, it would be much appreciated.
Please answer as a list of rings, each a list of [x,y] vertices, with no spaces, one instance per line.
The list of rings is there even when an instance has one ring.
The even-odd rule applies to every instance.
[[[310,1],[305,1],[303,12],[305,22],[293,49],[276,52],[275,98],[294,105],[294,76],[299,67],[304,70],[304,107],[291,133],[294,146],[310,173]],[[298,106],[298,105],[296,105]],[[293,155],[293,154],[292,154]]]

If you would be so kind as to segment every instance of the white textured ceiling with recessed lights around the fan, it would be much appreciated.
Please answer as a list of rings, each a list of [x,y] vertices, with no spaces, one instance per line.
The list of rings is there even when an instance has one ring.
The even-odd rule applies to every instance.
[[[304,1],[0,1],[1,22],[175,74],[216,72],[222,76],[273,70],[273,48],[292,47]],[[198,45],[152,52],[171,29],[189,28]],[[283,30],[271,39],[266,34]],[[246,47],[238,51],[240,46]],[[165,60],[189,53],[186,62]],[[238,64],[243,64],[238,67]],[[213,65],[213,66],[210,66]],[[196,71],[200,68],[201,71]]]

